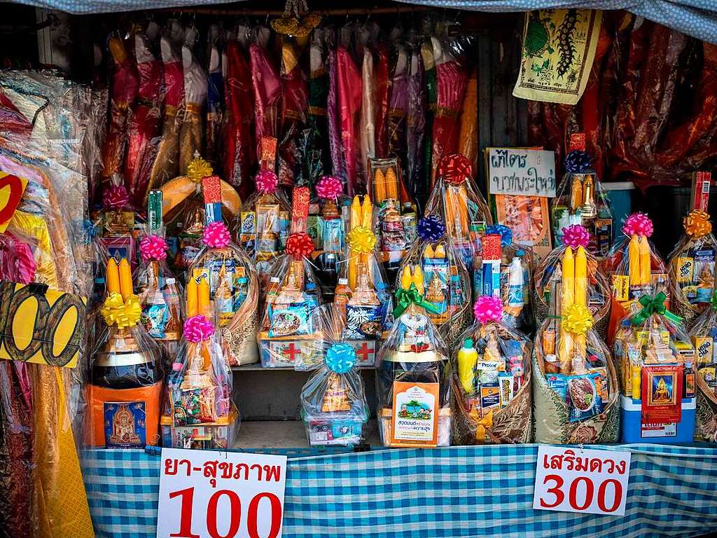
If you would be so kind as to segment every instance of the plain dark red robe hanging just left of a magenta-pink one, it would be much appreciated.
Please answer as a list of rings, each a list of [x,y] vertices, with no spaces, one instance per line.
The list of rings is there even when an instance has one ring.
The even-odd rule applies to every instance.
[[[253,189],[250,175],[257,163],[254,138],[252,71],[242,45],[227,44],[227,122],[224,130],[224,178],[246,199]]]

